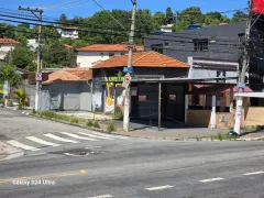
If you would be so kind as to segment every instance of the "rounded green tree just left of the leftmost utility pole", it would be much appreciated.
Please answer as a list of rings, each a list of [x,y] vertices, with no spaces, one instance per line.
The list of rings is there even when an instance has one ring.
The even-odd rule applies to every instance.
[[[33,62],[33,52],[26,46],[15,46],[12,53],[12,64],[25,68]]]

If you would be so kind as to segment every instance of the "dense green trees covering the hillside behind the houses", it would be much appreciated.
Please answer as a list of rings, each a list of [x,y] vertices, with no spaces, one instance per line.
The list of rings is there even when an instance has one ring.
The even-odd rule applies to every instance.
[[[114,21],[111,13],[120,24]],[[128,44],[131,26],[131,11],[113,9],[111,11],[99,11],[88,18],[74,16],[69,19],[62,14],[58,24],[42,28],[42,59],[43,67],[73,67],[76,54],[74,51],[65,48],[64,44],[72,45],[74,50],[90,44]],[[135,44],[143,44],[144,36],[154,31],[161,30],[162,25],[174,24],[173,31],[185,31],[190,24],[204,26],[218,25],[220,23],[239,22],[245,20],[248,14],[237,11],[233,18],[228,18],[220,12],[202,13],[199,7],[189,7],[180,12],[175,12],[173,8],[152,13],[148,9],[139,9],[135,21]],[[51,24],[50,24],[51,25]],[[79,26],[79,38],[61,38],[57,32],[59,26]],[[18,40],[20,45],[12,53],[12,64],[20,68],[28,68],[35,72],[36,52],[31,52],[28,45],[29,38],[37,38],[38,26],[30,26],[22,23],[13,24],[0,23],[0,36]]]

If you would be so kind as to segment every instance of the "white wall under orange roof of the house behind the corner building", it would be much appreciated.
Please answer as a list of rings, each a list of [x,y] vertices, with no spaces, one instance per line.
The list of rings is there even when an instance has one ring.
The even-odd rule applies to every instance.
[[[78,52],[76,63],[79,67],[90,68],[100,61],[109,59],[109,53],[114,53],[114,56],[124,54],[124,52]]]

